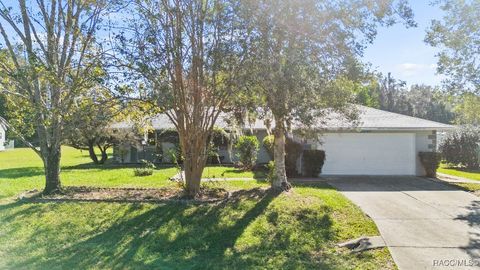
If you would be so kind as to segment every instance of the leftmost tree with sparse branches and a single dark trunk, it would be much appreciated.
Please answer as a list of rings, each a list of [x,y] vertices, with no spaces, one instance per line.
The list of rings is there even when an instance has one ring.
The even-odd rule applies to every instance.
[[[45,194],[61,190],[65,120],[77,97],[97,83],[101,51],[95,33],[106,8],[106,1],[18,0],[14,7],[0,1],[0,46],[8,60],[0,61],[0,92],[15,103],[10,129],[43,161]],[[22,136],[26,125],[39,148]]]

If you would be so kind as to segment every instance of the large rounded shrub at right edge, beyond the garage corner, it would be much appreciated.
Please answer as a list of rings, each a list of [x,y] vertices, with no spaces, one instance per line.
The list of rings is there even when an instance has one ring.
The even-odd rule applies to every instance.
[[[464,127],[450,132],[440,144],[442,158],[454,166],[464,166],[469,169],[478,168],[479,142],[480,132],[478,129]]]

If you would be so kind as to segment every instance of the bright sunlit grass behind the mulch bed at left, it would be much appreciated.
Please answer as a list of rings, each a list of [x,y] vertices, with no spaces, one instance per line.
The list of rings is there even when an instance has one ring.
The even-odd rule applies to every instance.
[[[61,181],[65,186],[161,187],[170,184],[175,168],[162,168],[147,177],[135,177],[131,167],[93,166],[86,151],[62,148]],[[41,159],[30,149],[0,152],[0,199],[45,185]]]

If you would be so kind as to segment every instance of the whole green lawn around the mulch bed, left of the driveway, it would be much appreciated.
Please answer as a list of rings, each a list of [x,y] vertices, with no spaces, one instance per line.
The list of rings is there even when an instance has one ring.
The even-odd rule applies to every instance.
[[[64,185],[165,186],[131,168],[91,166],[65,148]],[[239,190],[217,204],[35,203],[18,192],[41,188],[41,163],[28,150],[0,153],[0,269],[391,269],[387,249],[350,254],[336,243],[378,235],[374,223],[333,188],[261,192],[263,181],[209,183]]]

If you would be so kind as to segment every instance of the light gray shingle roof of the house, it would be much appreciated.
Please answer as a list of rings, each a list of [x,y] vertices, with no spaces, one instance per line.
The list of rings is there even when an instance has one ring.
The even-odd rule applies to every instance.
[[[402,131],[402,130],[448,130],[455,128],[452,125],[442,124],[430,120],[425,120],[417,117],[411,117],[403,114],[387,112],[370,107],[355,105],[358,111],[358,120],[352,123],[340,114],[330,113],[327,114],[323,121],[318,121],[318,125],[314,125],[315,129],[322,130],[390,130],[390,131]],[[228,129],[229,124],[226,119],[226,114],[220,115],[217,120],[216,126]],[[320,122],[322,122],[320,124]],[[170,119],[164,115],[159,114],[151,119],[151,123],[154,129],[166,129],[174,128]],[[113,128],[128,128],[131,127],[131,123],[120,122],[114,124]],[[255,123],[248,124],[246,128],[255,130],[266,129],[264,121],[257,119]]]

